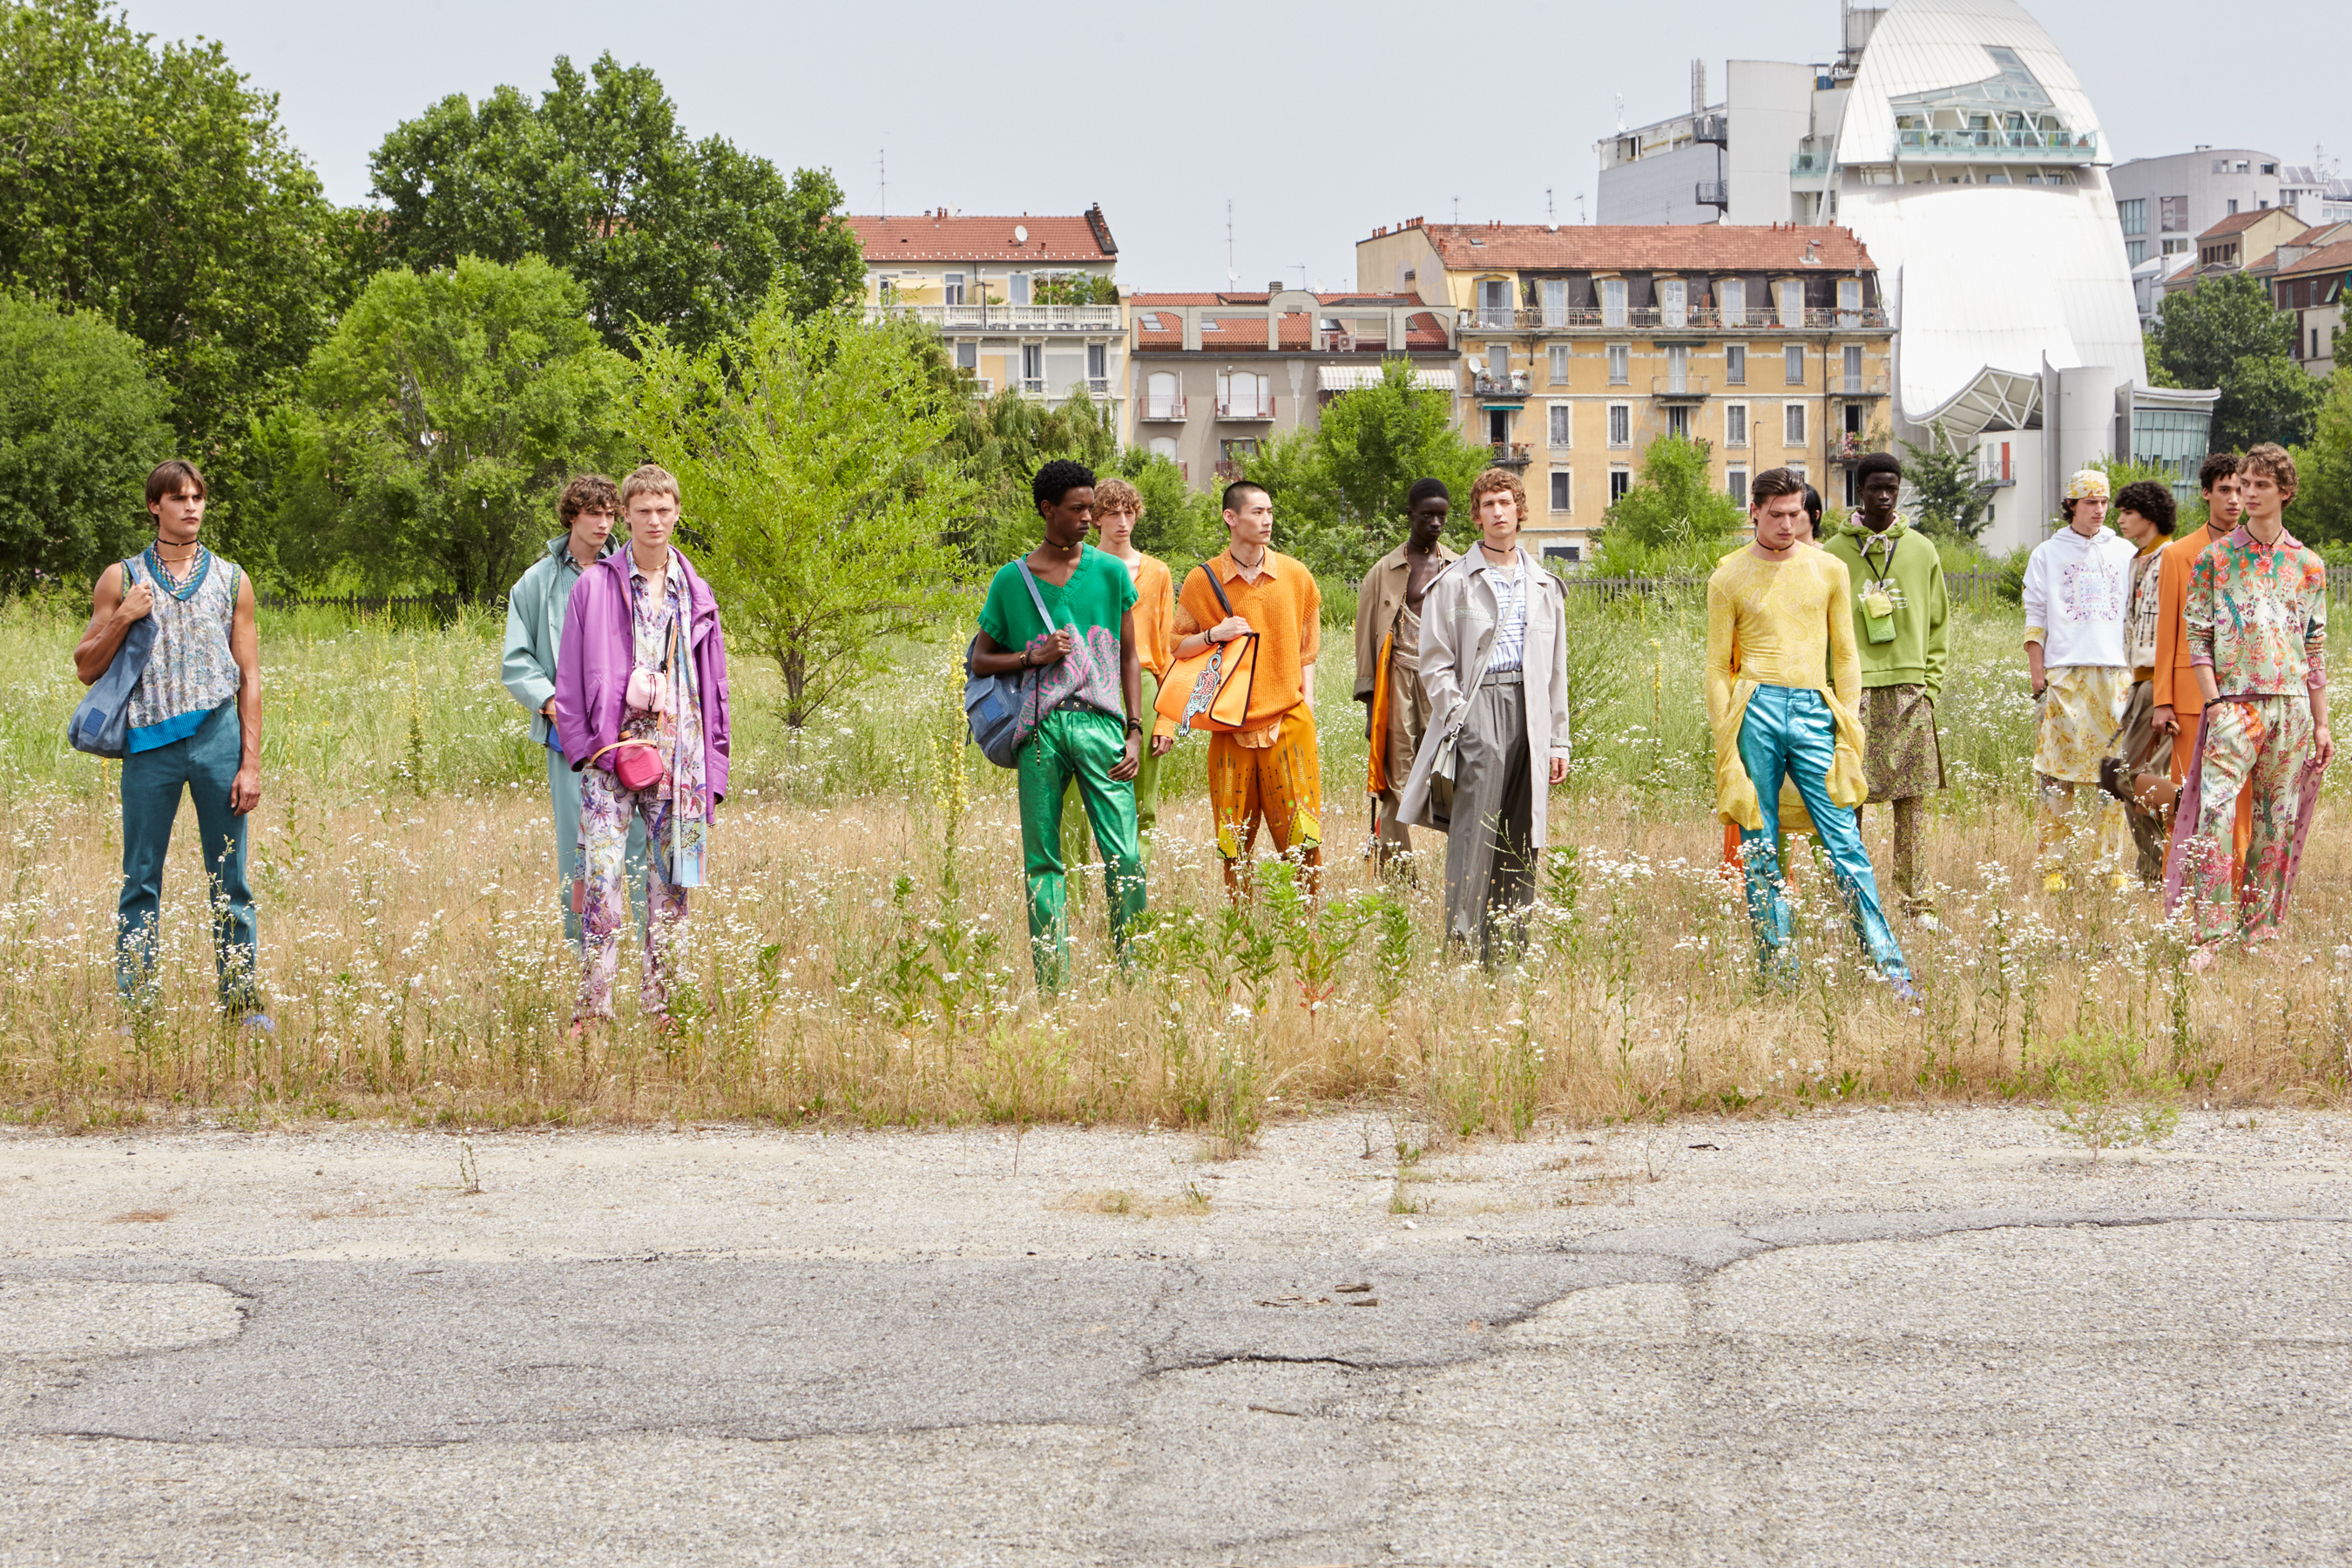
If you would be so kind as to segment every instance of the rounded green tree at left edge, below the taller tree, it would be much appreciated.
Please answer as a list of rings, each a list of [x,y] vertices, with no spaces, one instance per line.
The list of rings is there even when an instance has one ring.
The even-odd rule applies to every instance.
[[[0,588],[87,588],[143,543],[141,482],[172,456],[169,409],[139,339],[0,296]]]

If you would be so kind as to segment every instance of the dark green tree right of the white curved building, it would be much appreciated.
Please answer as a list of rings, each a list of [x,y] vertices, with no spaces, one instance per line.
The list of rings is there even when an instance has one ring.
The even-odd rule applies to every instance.
[[[2147,334],[2150,378],[2159,386],[2220,388],[2213,447],[2310,440],[2326,397],[2293,357],[2296,317],[2274,310],[2258,277],[2227,273],[2176,294]],[[2159,374],[2161,371],[2161,374]]]

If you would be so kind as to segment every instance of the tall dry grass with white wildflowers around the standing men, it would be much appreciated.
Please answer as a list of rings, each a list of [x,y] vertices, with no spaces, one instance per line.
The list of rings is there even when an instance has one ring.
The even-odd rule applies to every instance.
[[[1327,896],[1268,865],[1258,900],[1225,907],[1190,741],[1131,971],[1108,961],[1096,886],[1075,900],[1080,964],[1058,999],[1033,990],[1011,776],[962,745],[955,649],[898,649],[889,679],[800,736],[776,722],[774,670],[739,665],[736,795],[696,893],[684,1027],[626,1018],[576,1046],[543,762],[496,684],[499,630],[263,616],[254,879],[278,1030],[249,1034],[212,1009],[186,816],[162,1006],[136,1025],[118,1011],[118,771],[61,738],[75,625],[0,611],[19,670],[0,717],[7,1114],[1110,1119],[1242,1145],[1270,1114],[1345,1100],[1416,1135],[1512,1135],[1555,1114],[2034,1095],[2086,1037],[2129,1041],[2140,1070],[2213,1100],[2336,1100],[2347,1081],[2352,947],[2333,943],[2352,910],[2331,820],[2279,957],[2201,980],[2147,896],[2023,891],[2013,614],[1957,625],[1952,790],[1929,856],[1945,922],[1903,929],[1926,1001],[1898,1006],[1867,978],[1820,875],[1799,877],[1804,983],[1764,990],[1717,867],[1691,597],[1576,611],[1578,762],[1524,961],[1501,973],[1442,950],[1442,839],[1425,839],[1418,886],[1374,882],[1355,853],[1364,736],[1338,637],[1317,672]]]

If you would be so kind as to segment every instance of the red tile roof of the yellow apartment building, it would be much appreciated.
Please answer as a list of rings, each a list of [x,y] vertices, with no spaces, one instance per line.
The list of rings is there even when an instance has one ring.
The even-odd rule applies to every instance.
[[[1390,230],[1402,233],[1402,230]],[[1797,223],[1423,223],[1451,273],[1564,268],[1630,273],[1780,273],[1811,266],[1875,273],[1849,228]]]

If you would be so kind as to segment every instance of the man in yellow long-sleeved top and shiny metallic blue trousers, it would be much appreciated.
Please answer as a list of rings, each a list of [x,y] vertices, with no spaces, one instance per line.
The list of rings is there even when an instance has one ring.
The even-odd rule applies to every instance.
[[[1766,468],[1750,487],[1755,543],[1708,578],[1708,719],[1715,724],[1715,811],[1740,830],[1757,959],[1795,980],[1788,891],[1773,839],[1780,780],[1797,785],[1853,933],[1903,999],[1915,997],[1903,947],[1879,907],[1853,806],[1863,799],[1863,665],[1853,646],[1846,564],[1799,550],[1804,480]],[[1733,672],[1738,649],[1738,672]]]

